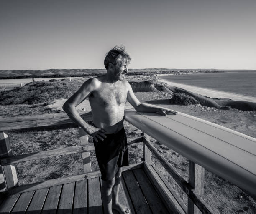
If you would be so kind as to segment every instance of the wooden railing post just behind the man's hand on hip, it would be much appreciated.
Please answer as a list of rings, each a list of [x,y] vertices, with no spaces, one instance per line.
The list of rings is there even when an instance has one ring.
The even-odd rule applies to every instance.
[[[80,143],[81,146],[84,146],[84,148],[89,144],[88,141],[88,134],[84,131],[83,128],[79,127],[79,134],[80,134]],[[83,159],[83,165],[84,165],[84,173],[91,172],[91,160],[90,160],[90,152],[82,152],[82,159]]]

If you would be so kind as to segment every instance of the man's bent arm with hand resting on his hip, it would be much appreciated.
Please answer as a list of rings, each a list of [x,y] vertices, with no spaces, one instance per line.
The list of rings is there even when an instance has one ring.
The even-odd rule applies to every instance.
[[[74,93],[62,106],[63,110],[67,113],[67,115],[77,123],[78,126],[81,126],[84,131],[86,131],[89,135],[91,135],[95,141],[97,142],[97,138],[100,140],[103,140],[102,137],[105,137],[103,134],[104,131],[95,128],[94,126],[90,126],[88,123],[86,123],[82,117],[79,115],[79,113],[76,110],[76,106],[78,106],[82,101],[84,101],[92,91],[94,91],[97,88],[97,80],[95,78],[91,78],[87,80],[80,88],[79,90]]]

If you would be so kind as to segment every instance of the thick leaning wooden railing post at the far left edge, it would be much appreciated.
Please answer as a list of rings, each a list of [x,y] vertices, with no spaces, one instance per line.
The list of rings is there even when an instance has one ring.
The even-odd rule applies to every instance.
[[[0,158],[1,161],[5,161],[3,158],[11,157],[12,149],[9,142],[9,136],[0,132]],[[2,173],[2,174],[1,174]],[[10,189],[14,186],[18,186],[18,179],[16,169],[13,165],[1,166],[0,170],[0,192]]]

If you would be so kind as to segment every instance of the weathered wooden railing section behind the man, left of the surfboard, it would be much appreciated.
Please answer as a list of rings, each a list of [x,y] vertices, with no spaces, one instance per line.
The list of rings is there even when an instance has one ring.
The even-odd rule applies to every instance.
[[[92,114],[90,112],[83,113],[82,118],[84,119],[84,121],[87,122],[92,121]],[[91,172],[92,169],[90,161],[90,151],[94,150],[94,146],[88,145],[88,135],[80,127],[78,127],[80,135],[79,146],[70,146],[67,148],[38,151],[34,153],[21,154],[16,156],[13,156],[12,154],[9,137],[6,133],[6,131],[9,130],[54,130],[68,127],[77,127],[77,125],[73,123],[64,113],[23,116],[16,118],[2,118],[0,122],[0,165],[2,166],[2,173],[0,171],[0,182],[2,181],[2,183],[0,184],[0,191],[7,191],[18,185],[16,169],[13,164],[24,161],[44,159],[74,153],[82,153],[84,173]],[[142,141],[142,136],[128,138],[128,144]]]

